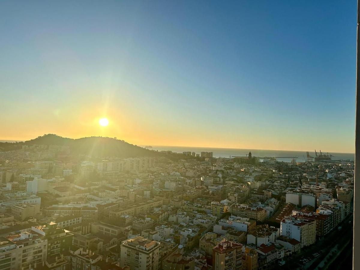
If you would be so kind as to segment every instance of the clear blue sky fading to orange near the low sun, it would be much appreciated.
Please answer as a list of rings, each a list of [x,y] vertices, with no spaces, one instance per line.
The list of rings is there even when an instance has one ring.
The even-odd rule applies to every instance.
[[[0,139],[354,152],[356,0],[1,1],[0,34]]]

